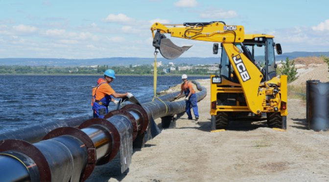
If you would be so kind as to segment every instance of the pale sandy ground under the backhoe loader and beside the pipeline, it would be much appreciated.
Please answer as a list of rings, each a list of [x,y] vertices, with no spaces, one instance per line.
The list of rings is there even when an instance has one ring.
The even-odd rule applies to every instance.
[[[306,130],[305,103],[289,99],[286,132],[241,121],[210,133],[210,81],[200,83],[208,95],[198,103],[199,121],[184,114],[134,151],[126,172],[117,160],[96,167],[88,181],[329,181],[329,132]]]

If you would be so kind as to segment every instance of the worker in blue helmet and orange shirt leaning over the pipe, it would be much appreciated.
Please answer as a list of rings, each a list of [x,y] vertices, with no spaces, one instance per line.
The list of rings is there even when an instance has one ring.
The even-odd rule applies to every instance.
[[[109,85],[116,78],[115,72],[112,69],[107,69],[104,72],[104,82],[100,83],[95,89],[95,102],[93,106],[94,117],[104,118],[109,112],[108,106],[111,102],[111,96],[115,98],[132,97],[132,93],[117,93]]]

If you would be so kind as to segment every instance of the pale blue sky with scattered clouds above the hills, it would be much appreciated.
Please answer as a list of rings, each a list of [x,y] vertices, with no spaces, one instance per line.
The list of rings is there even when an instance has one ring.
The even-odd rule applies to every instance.
[[[328,6],[328,0],[0,0],[0,58],[150,58],[155,22],[224,21],[274,35],[283,52],[329,51]],[[172,41],[193,45],[182,57],[214,56],[213,43]]]

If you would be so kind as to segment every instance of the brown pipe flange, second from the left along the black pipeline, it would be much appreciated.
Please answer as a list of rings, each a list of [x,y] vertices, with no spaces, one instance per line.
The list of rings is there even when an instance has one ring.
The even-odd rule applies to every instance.
[[[82,172],[80,179],[80,181],[83,182],[87,180],[87,178],[92,174],[96,165],[97,158],[96,158],[96,149],[94,143],[86,133],[74,127],[56,128],[55,130],[52,130],[51,132],[47,133],[47,135],[43,138],[43,140],[47,140],[50,138],[59,137],[63,135],[69,135],[78,138],[80,141],[82,141],[85,144],[87,148],[87,152],[88,152],[87,164]]]

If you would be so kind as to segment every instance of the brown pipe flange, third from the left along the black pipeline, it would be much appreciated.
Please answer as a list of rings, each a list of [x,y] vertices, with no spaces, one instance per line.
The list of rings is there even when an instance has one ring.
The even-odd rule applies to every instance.
[[[116,157],[119,149],[120,149],[120,134],[116,126],[114,126],[111,122],[103,118],[92,118],[85,122],[83,122],[78,128],[81,130],[83,128],[87,128],[92,125],[101,125],[106,128],[109,132],[109,135],[112,139],[112,149],[109,149],[110,153],[106,154],[104,157],[100,158],[96,165],[106,164]]]

